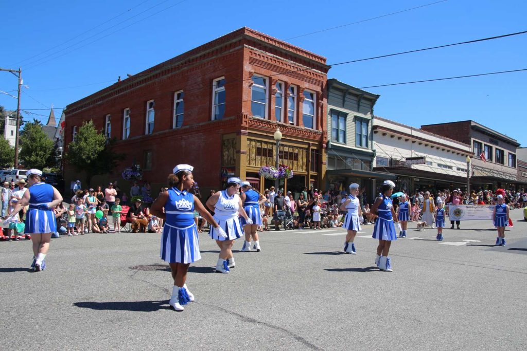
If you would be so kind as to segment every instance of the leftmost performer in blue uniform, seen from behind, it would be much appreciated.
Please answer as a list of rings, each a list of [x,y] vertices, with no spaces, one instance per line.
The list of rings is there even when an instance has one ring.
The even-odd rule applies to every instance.
[[[41,181],[42,171],[30,169],[26,175],[27,184],[30,187],[24,192],[22,199],[4,224],[11,222],[22,208],[29,205],[24,234],[31,234],[33,242],[33,263],[31,266],[35,272],[40,272],[46,268],[44,258],[50,248],[51,234],[56,232],[53,208],[62,202],[62,196],[52,185]]]

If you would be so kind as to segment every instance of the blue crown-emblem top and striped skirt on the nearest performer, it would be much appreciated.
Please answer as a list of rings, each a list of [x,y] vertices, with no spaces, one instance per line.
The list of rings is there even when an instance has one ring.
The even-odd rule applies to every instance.
[[[201,259],[198,228],[194,222],[194,195],[177,188],[168,190],[161,235],[161,259],[168,263],[192,263]]]

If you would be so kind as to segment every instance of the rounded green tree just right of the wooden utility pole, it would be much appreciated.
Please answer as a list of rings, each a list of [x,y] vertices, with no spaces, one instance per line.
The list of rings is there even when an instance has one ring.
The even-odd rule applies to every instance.
[[[27,168],[43,169],[55,164],[53,141],[47,138],[42,124],[36,119],[24,126],[20,136],[19,157]]]

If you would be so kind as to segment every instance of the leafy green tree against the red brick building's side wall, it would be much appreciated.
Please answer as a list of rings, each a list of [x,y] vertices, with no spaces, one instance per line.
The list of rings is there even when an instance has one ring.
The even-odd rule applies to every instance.
[[[113,151],[116,138],[106,139],[97,131],[93,121],[84,122],[79,128],[75,141],[68,145],[66,161],[75,167],[77,172],[86,172],[89,185],[94,175],[111,173],[124,154]]]

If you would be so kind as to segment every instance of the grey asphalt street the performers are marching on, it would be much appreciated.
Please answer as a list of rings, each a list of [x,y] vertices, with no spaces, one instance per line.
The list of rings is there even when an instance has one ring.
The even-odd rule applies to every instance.
[[[357,255],[341,253],[342,229],[264,232],[230,274],[213,273],[218,248],[202,234],[196,302],[181,313],[157,234],[53,239],[42,273],[28,268],[30,242],[2,242],[2,348],[525,349],[527,223],[511,215],[506,247],[490,222],[445,229],[442,243],[411,223],[393,273],[374,267],[373,225]]]

